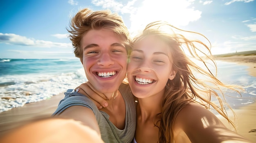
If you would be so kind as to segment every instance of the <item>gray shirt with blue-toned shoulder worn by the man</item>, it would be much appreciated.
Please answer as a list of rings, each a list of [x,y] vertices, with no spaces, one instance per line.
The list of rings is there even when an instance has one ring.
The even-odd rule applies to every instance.
[[[98,110],[97,106],[89,98],[72,89],[69,89],[64,93],[65,98],[60,101],[58,108],[53,113],[53,116],[60,114],[71,106],[88,107],[95,114],[101,131],[101,138],[105,143],[130,143],[132,142],[136,128],[136,103],[128,84],[121,84],[119,91],[126,104],[124,130],[119,130],[115,127],[115,125],[109,121],[109,115],[106,114],[106,112]]]

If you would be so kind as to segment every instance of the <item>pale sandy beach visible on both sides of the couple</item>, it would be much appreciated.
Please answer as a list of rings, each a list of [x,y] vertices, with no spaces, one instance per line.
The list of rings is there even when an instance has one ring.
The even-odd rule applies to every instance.
[[[256,77],[256,55],[216,57],[216,60],[246,65],[248,66],[249,75]],[[23,107],[13,108],[0,113],[0,135],[18,125],[26,123],[26,121],[50,117],[56,110],[58,102],[63,99],[63,97],[64,94],[61,93],[48,100],[28,103]],[[256,143],[256,132],[250,132],[251,130],[256,130],[256,103],[254,102],[234,111],[237,115],[236,125],[238,134]],[[225,120],[222,119],[222,121],[227,127],[230,127]]]

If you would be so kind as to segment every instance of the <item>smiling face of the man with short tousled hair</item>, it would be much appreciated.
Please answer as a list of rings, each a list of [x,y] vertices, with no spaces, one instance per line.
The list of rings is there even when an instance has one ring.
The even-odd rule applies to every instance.
[[[83,68],[88,81],[101,93],[117,90],[126,76],[127,51],[109,29],[90,30],[83,35]]]

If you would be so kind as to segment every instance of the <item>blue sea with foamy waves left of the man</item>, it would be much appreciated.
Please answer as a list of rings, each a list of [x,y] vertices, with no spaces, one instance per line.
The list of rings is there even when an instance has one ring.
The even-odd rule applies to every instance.
[[[0,112],[51,98],[85,81],[78,58],[0,59]]]

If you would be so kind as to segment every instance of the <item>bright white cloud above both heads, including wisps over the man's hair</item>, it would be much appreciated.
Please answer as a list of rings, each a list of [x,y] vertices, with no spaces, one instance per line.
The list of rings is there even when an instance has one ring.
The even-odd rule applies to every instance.
[[[146,24],[158,20],[167,21],[174,26],[186,26],[201,17],[201,11],[188,8],[193,2],[194,0],[131,0],[123,4],[115,0],[92,0],[92,4],[103,9],[130,14],[130,32],[144,29]]]

